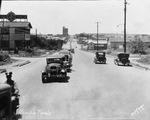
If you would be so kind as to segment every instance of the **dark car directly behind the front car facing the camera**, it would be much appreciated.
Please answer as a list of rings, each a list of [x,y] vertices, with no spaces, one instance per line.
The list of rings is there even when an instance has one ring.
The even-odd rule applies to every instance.
[[[72,54],[71,54],[71,52],[69,51],[69,50],[61,50],[60,52],[59,52],[59,54],[60,55],[64,55],[65,56],[65,58],[66,58],[66,61],[68,62],[68,67],[69,67],[69,69],[72,67],[72,59],[73,59],[73,56],[72,56]],[[68,69],[68,70],[69,70]]]

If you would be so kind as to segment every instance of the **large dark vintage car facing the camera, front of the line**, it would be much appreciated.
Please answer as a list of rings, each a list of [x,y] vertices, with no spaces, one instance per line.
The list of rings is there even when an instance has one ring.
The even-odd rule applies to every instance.
[[[64,55],[52,55],[46,58],[47,65],[42,71],[42,82],[46,83],[50,78],[64,78],[67,70],[64,63]]]

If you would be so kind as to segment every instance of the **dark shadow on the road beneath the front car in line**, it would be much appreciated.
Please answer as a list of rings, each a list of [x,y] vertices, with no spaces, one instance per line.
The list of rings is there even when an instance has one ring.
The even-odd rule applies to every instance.
[[[49,78],[47,83],[68,83],[69,82],[70,77],[67,76],[65,78]]]

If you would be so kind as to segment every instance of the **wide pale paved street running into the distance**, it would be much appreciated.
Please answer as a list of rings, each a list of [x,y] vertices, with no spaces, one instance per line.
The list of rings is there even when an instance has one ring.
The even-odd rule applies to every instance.
[[[45,57],[12,69],[21,94],[18,113],[23,119],[150,118],[149,71],[114,65],[112,56],[106,56],[106,65],[95,64],[93,53],[81,51],[76,42],[72,47],[75,54],[68,82],[42,83]]]

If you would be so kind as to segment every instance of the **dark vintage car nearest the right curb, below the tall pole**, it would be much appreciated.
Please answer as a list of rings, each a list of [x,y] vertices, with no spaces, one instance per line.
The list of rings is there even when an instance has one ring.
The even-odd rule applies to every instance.
[[[114,63],[117,65],[130,65],[129,54],[127,53],[119,53],[117,55],[118,58],[114,60]]]

